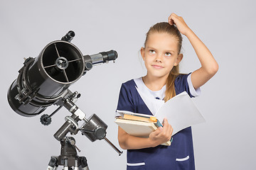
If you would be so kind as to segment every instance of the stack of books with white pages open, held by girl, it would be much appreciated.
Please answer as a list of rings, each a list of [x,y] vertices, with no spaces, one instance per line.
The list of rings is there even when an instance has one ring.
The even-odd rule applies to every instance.
[[[146,137],[146,134],[149,135],[152,130],[156,130],[157,126],[156,128],[151,128],[149,125],[150,122],[142,123],[142,121],[138,120],[129,120],[124,118],[124,115],[140,115],[149,118],[150,116],[154,116],[160,123],[163,122],[164,118],[167,118],[168,123],[174,128],[172,135],[175,135],[176,132],[188,128],[191,125],[196,125],[206,121],[186,91],[174,96],[174,98],[171,98],[169,101],[164,103],[164,105],[159,108],[159,111],[156,112],[156,115],[145,115],[129,111],[117,112],[122,117],[116,118],[115,123],[117,123],[128,134],[139,137]]]

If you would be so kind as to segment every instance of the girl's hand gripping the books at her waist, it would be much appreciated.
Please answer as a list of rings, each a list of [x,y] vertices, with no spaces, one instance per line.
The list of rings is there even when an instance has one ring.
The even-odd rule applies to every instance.
[[[156,147],[164,142],[170,141],[173,131],[174,128],[172,128],[167,119],[164,118],[164,127],[159,127],[154,132],[151,132],[149,135],[149,140],[151,140],[152,145]]]

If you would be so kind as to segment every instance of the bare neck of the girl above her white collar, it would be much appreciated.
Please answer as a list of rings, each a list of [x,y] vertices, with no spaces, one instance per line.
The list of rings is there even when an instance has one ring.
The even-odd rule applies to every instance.
[[[142,77],[142,80],[151,91],[159,91],[166,84],[167,77],[151,77],[149,74],[146,74],[145,77]]]

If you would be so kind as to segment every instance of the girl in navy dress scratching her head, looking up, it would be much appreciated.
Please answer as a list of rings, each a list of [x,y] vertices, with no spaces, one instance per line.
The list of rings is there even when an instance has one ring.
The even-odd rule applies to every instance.
[[[178,73],[183,58],[181,34],[191,42],[201,62],[201,67],[190,74]],[[183,91],[198,96],[200,86],[218,71],[206,45],[175,13],[171,13],[168,23],[156,23],[149,29],[140,51],[147,74],[122,84],[117,110],[154,115],[164,102]],[[166,119],[164,127],[148,138],[128,135],[119,127],[119,145],[127,149],[127,169],[195,169],[191,127],[176,133],[171,146],[160,145],[171,139],[172,131]]]

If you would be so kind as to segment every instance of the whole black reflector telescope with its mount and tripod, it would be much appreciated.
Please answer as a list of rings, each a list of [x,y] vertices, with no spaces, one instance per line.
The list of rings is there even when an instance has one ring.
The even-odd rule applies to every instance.
[[[38,57],[28,57],[18,71],[18,77],[11,84],[7,98],[11,108],[19,115],[32,117],[43,113],[49,106],[58,106],[50,115],[41,115],[41,123],[50,125],[51,117],[63,106],[71,113],[65,117],[65,123],[53,135],[60,141],[61,154],[51,157],[48,170],[57,169],[89,169],[85,157],[78,157],[74,137],[79,131],[89,140],[105,140],[121,155],[122,152],[107,140],[107,125],[96,115],[86,118],[86,114],[75,105],[80,94],[68,89],[78,79],[90,71],[93,66],[117,59],[117,52],[110,50],[95,55],[82,55],[82,52],[71,43],[75,33],[70,30],[61,40],[50,42]],[[78,127],[78,121],[83,121]],[[79,149],[78,149],[79,151]]]

